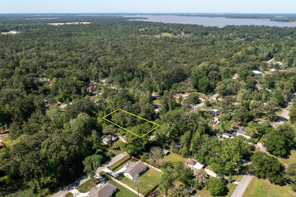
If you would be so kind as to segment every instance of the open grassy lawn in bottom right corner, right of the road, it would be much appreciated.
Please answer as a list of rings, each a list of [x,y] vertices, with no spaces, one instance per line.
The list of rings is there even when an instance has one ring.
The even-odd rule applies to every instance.
[[[269,196],[293,196],[293,191],[289,185],[279,186],[270,183],[267,179],[258,179],[253,176],[247,189],[244,191],[243,197],[269,197]]]

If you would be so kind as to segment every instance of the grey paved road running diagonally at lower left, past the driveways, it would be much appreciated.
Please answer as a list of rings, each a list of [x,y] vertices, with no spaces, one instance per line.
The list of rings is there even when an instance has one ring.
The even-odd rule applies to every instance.
[[[119,155],[115,156],[110,161],[104,163],[101,167],[98,167],[97,170],[96,170],[96,173],[102,172],[103,169],[105,169],[107,167],[107,165],[110,166],[110,165],[114,164],[115,162],[122,159],[124,156],[126,156],[126,153],[120,153]],[[85,175],[85,176],[81,177],[80,179],[76,180],[71,185],[68,185],[67,187],[61,189],[58,193],[54,194],[52,197],[63,197],[67,193],[72,191],[73,189],[77,188],[77,186],[81,185],[82,183],[86,182],[89,179],[90,179],[90,177]]]

